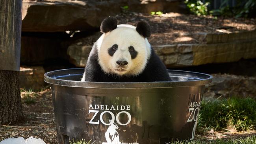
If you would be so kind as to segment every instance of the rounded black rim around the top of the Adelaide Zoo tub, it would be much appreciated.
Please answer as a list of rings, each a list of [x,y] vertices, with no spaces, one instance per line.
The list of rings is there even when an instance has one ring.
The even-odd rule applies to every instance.
[[[204,74],[199,72],[190,72],[190,71],[184,71],[184,70],[168,70],[168,72],[183,72],[184,74],[186,73],[193,74],[194,76],[200,75],[200,76],[204,76],[205,79],[191,80],[191,81],[154,81],[154,82],[114,83],[114,82],[91,82],[91,81],[65,80],[65,79],[55,78],[57,77],[56,75],[55,77],[52,76],[58,72],[65,72],[67,70],[78,71],[78,70],[84,70],[84,68],[69,68],[69,69],[61,69],[61,70],[46,72],[44,75],[44,80],[46,83],[50,83],[51,85],[59,85],[59,86],[66,86],[66,87],[95,88],[95,89],[148,89],[148,88],[152,89],[152,88],[171,88],[171,87],[191,87],[191,86],[206,85],[211,83],[212,81],[212,76],[209,74]],[[80,75],[81,72],[79,73],[77,72],[77,74]]]

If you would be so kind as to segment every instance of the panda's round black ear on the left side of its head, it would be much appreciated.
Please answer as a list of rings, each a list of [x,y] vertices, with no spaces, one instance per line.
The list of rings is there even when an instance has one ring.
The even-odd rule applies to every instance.
[[[100,32],[107,33],[117,28],[117,18],[108,17],[105,18],[100,25]]]

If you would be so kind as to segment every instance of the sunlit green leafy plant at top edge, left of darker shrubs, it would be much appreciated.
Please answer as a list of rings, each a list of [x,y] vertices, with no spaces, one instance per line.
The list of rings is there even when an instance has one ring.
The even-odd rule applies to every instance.
[[[189,8],[189,10],[200,16],[200,15],[208,15],[208,5],[210,2],[203,3],[200,0],[185,0],[185,4]]]

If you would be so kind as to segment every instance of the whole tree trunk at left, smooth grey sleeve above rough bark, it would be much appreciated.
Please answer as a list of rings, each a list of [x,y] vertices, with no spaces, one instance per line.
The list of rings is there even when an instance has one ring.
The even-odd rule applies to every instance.
[[[23,118],[20,89],[22,0],[0,0],[0,124]]]

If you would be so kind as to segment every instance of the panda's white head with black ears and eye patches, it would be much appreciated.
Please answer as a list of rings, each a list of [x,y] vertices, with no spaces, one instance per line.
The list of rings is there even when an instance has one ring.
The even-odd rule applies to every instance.
[[[141,21],[137,27],[117,25],[115,17],[102,21],[100,31],[103,35],[97,41],[98,62],[108,74],[137,76],[145,69],[150,57],[150,25]]]

